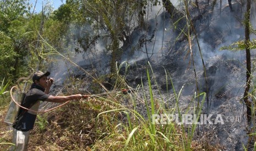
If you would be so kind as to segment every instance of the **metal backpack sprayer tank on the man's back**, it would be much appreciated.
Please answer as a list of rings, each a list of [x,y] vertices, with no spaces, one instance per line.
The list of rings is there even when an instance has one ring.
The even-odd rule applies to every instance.
[[[5,123],[13,124],[15,122],[20,107],[14,101],[16,101],[18,104],[21,104],[23,102],[26,95],[26,86],[28,85],[27,80],[30,79],[33,74],[34,73],[30,74],[29,77],[22,77],[17,80],[16,83],[18,85],[18,89],[14,91],[13,97],[11,97],[9,109],[6,114],[6,118],[4,118]],[[24,88],[22,91],[19,85],[20,80],[25,80]],[[12,93],[12,91],[10,91],[10,93]]]

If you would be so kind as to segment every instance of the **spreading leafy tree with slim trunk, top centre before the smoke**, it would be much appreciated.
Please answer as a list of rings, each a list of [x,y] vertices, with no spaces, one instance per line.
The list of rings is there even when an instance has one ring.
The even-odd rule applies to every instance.
[[[81,39],[80,45],[94,45],[97,38],[106,41],[105,49],[111,54],[111,73],[116,72],[116,62],[123,53],[124,41],[136,27],[145,30],[146,5],[156,5],[159,1],[83,1],[87,18],[93,21],[95,38]],[[91,36],[90,36],[91,37]],[[88,48],[83,47],[82,48]],[[84,50],[86,51],[86,50]]]

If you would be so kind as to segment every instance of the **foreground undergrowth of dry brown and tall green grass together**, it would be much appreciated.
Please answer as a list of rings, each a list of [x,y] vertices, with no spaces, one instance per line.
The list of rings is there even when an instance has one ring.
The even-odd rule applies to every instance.
[[[210,143],[205,145],[193,140],[194,124],[177,125],[170,119],[167,119],[168,124],[155,124],[154,114],[181,116],[179,97],[182,89],[176,91],[172,85],[176,104],[166,108],[163,98],[156,97],[155,93],[161,96],[160,90],[151,89],[151,82],[156,85],[157,82],[149,64],[146,73],[148,85],[130,89],[124,85],[125,77],[117,76],[119,79],[113,92],[91,95],[87,100],[71,101],[55,111],[39,114],[31,131],[29,150],[216,150],[217,147]],[[77,85],[66,86],[66,93],[60,95],[79,92],[79,84],[84,83],[77,80],[74,80]],[[172,83],[168,73],[166,80]],[[121,91],[121,88],[129,91]],[[198,98],[203,104],[205,93],[191,98],[194,114],[200,114],[202,108],[195,109]],[[12,132],[6,132],[1,140],[6,144],[0,144],[0,147],[8,149],[11,138]]]

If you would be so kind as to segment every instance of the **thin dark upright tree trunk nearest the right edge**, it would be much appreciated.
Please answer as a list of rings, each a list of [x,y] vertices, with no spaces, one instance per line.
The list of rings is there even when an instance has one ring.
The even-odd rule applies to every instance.
[[[244,28],[244,34],[246,37],[245,43],[246,43],[246,88],[244,89],[244,103],[246,103],[246,115],[247,115],[247,121],[250,122],[252,118],[252,111],[251,111],[251,102],[248,99],[249,89],[250,89],[250,74],[251,74],[251,67],[250,67],[250,48],[249,48],[249,42],[250,42],[250,31],[249,31],[249,22],[250,22],[250,0],[247,0],[247,6],[246,6],[246,14],[245,14],[245,28]]]

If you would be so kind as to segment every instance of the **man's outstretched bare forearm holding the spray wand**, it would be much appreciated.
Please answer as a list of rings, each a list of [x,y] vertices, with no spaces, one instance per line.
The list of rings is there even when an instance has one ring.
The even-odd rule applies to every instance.
[[[67,102],[69,100],[80,100],[81,98],[86,98],[86,97],[87,96],[83,96],[81,94],[69,95],[69,96],[52,96],[52,95],[50,95],[45,101],[62,103],[62,102]]]

